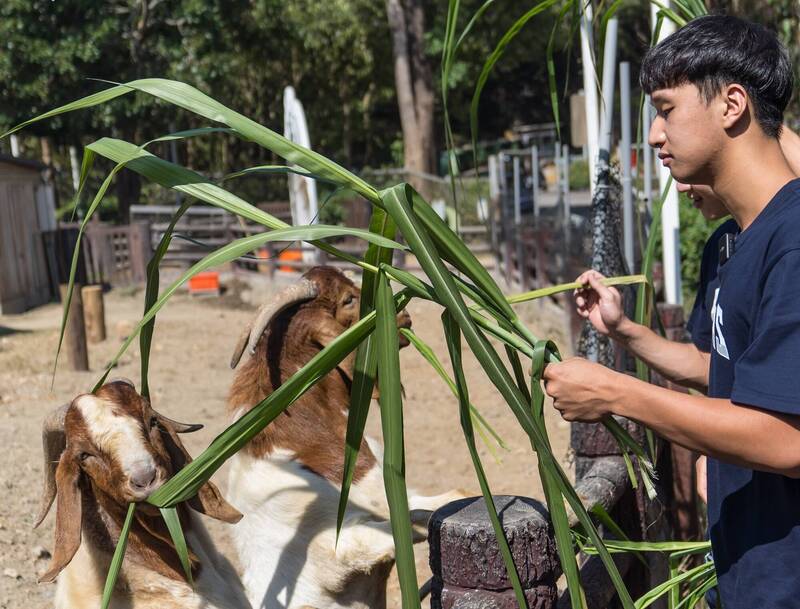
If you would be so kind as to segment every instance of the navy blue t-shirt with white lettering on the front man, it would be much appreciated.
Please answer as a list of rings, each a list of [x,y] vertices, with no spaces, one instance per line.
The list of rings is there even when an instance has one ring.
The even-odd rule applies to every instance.
[[[719,267],[710,397],[800,415],[798,229],[800,179],[775,195]],[[725,609],[800,607],[800,480],[709,458],[708,523]]]

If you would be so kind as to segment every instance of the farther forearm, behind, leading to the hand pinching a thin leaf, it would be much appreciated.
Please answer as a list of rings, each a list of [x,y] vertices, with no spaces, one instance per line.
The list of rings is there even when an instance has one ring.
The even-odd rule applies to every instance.
[[[667,340],[629,319],[620,324],[612,336],[670,381],[698,391],[708,387],[708,354],[692,343]]]

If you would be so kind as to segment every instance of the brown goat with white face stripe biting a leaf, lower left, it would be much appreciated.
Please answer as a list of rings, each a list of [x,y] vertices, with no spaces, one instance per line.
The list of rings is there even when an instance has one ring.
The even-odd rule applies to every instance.
[[[196,431],[157,413],[130,381],[103,385],[54,411],[44,423],[45,478],[36,526],[56,499],[55,548],[40,581],[58,576],[56,609],[96,609],[125,520],[136,502],[112,606],[162,609],[250,607],[236,578],[189,510],[225,522],[241,514],[206,483],[178,515],[190,549],[195,588],[185,581],[169,531],[144,500],[191,461],[178,434]],[[60,574],[60,575],[59,575]]]

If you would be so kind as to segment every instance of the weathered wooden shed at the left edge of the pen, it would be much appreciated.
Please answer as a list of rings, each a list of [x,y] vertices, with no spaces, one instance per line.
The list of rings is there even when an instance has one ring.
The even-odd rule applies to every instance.
[[[45,166],[0,155],[0,313],[22,313],[51,299],[41,232],[56,226]]]

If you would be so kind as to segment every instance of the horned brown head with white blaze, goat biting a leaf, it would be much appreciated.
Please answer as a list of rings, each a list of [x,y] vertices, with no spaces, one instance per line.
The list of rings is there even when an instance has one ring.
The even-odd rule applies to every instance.
[[[56,534],[50,569],[40,581],[52,581],[78,550],[85,493],[123,509],[143,502],[191,461],[178,434],[201,427],[159,414],[127,380],[79,395],[51,413],[42,429],[44,489],[34,526],[41,524],[55,499]],[[210,482],[189,505],[227,522],[241,518]],[[142,504],[142,509],[155,508]]]

